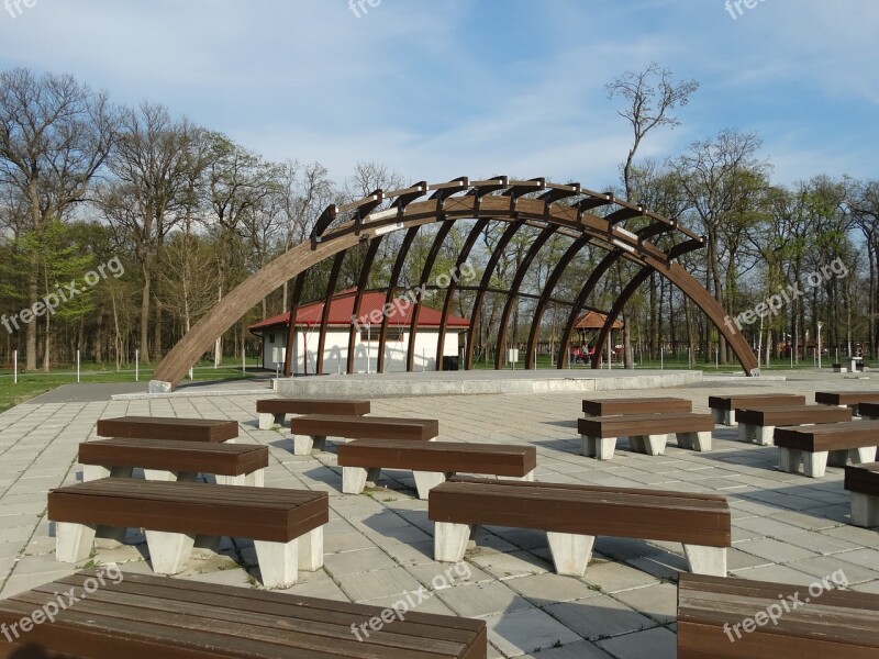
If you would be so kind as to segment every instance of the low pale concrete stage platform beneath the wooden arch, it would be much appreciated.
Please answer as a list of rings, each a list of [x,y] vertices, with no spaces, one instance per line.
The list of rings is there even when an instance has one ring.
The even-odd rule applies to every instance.
[[[381,398],[660,389],[701,381],[702,371],[688,370],[471,370],[279,378],[272,389],[286,398]]]

